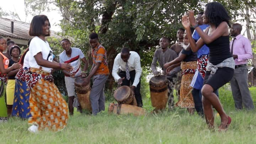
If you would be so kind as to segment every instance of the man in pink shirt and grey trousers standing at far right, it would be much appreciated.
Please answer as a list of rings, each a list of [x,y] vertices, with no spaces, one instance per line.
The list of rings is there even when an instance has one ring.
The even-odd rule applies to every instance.
[[[248,89],[247,60],[252,59],[252,48],[249,39],[241,35],[242,26],[234,23],[230,34],[234,36],[230,42],[230,52],[235,60],[235,71],[233,79],[230,80],[235,108],[241,110],[243,105],[246,109],[254,109],[252,97]]]

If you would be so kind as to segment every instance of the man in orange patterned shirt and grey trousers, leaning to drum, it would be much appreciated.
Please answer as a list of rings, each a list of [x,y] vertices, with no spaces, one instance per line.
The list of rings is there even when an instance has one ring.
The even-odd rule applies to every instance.
[[[98,42],[98,34],[91,33],[89,36],[89,43],[92,48],[93,65],[90,74],[83,79],[82,86],[89,84],[92,78],[92,88],[90,94],[90,101],[92,107],[92,114],[96,115],[100,111],[105,111],[105,95],[104,87],[107,81],[109,70],[107,64],[106,49]]]

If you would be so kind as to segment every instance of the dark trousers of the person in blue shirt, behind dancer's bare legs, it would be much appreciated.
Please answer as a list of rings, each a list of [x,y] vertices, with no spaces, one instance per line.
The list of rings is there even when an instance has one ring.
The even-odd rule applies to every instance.
[[[219,91],[218,89],[216,91],[214,91],[214,93],[219,97]],[[199,116],[204,116],[204,112],[203,112],[203,104],[202,104],[202,93],[201,90],[198,89],[194,89],[192,90],[192,95],[193,95],[193,99],[194,99],[194,105],[195,105],[195,109],[198,113]]]

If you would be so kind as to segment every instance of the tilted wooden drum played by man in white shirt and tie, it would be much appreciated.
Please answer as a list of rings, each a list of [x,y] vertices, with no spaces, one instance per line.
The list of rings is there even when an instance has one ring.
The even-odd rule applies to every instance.
[[[118,89],[114,92],[114,98],[116,99],[118,104],[137,106],[137,101],[129,86],[118,87]]]

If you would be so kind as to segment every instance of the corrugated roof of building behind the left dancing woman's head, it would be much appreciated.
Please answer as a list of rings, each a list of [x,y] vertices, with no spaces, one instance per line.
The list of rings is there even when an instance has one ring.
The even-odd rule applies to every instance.
[[[14,22],[14,33],[11,33],[11,21]],[[0,17],[0,36],[28,40],[31,38],[28,34],[29,28],[30,23]],[[60,36],[52,30],[51,36],[60,38]]]

